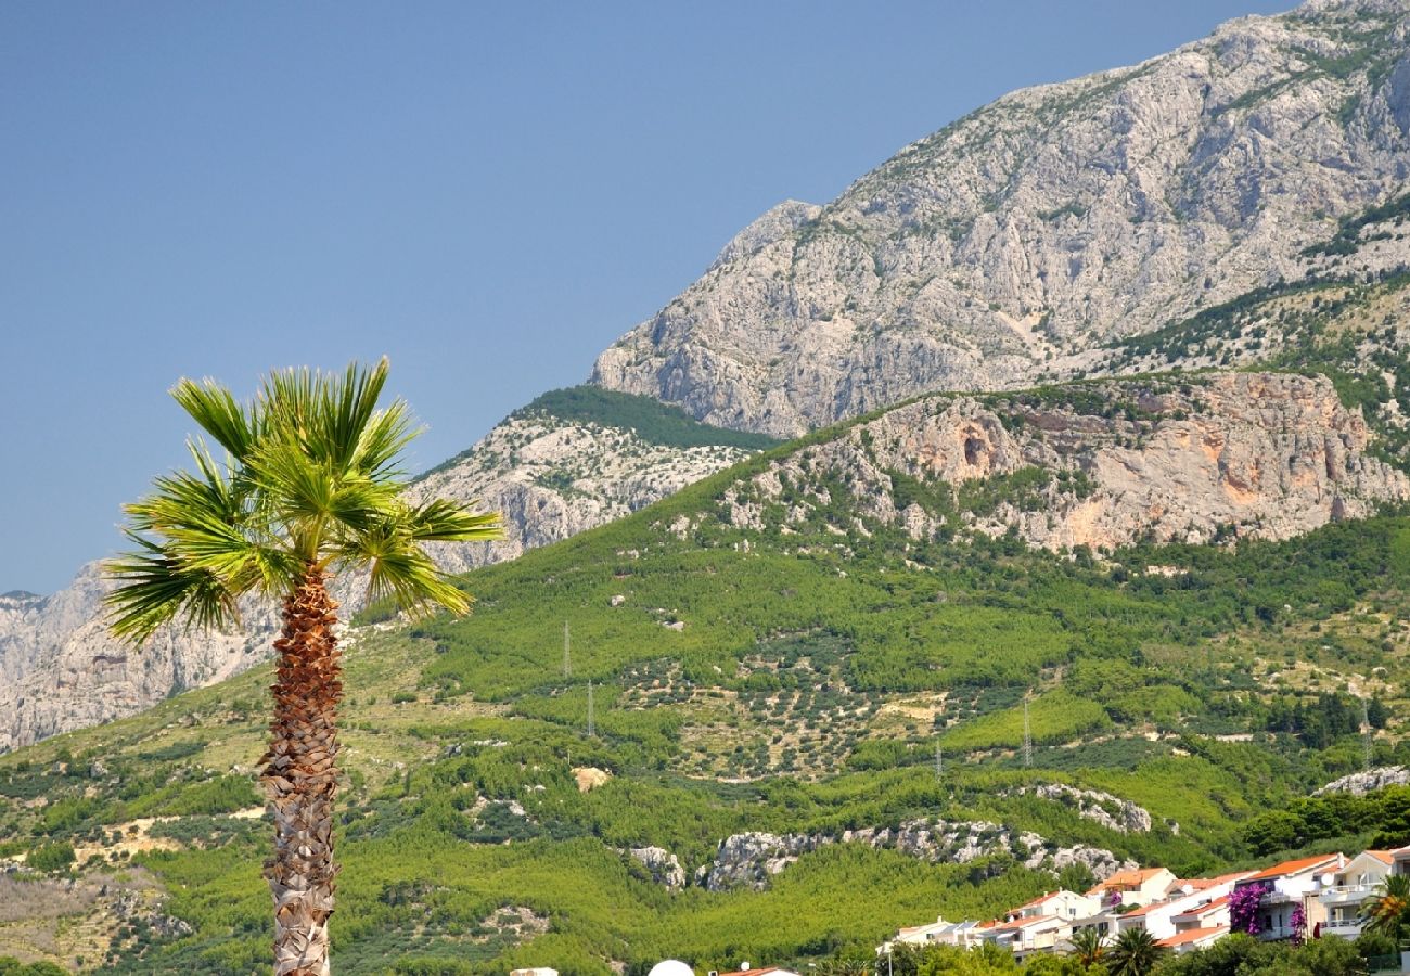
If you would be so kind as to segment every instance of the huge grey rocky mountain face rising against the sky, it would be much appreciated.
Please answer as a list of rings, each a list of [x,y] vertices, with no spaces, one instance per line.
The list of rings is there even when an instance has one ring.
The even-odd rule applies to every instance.
[[[832,203],[780,205],[594,382],[792,436],[933,389],[1032,385],[1321,265],[1410,172],[1410,6],[1314,1],[1007,94]],[[1379,244],[1382,267],[1410,245]]]

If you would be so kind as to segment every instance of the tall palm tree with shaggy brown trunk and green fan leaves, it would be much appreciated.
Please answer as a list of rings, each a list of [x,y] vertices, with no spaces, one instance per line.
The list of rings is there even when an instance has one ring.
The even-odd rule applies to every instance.
[[[155,480],[125,506],[137,551],[107,564],[111,629],[141,643],[164,623],[238,623],[248,592],[283,601],[269,750],[261,783],[275,821],[264,876],[274,893],[276,976],[327,976],[333,800],[343,700],[330,575],[368,571],[368,598],[464,614],[470,597],[431,563],[429,542],[498,536],[498,518],[448,501],[412,505],[398,470],[417,434],[402,401],[378,409],[386,360],[344,375],[288,370],[245,405],[212,379],[172,396],[226,451],[189,441],[196,471]]]

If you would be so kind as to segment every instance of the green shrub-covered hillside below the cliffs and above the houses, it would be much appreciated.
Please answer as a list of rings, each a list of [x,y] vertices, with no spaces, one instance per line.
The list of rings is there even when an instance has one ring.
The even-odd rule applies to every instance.
[[[1111,408],[1103,395],[1083,384],[1067,399]],[[364,615],[347,657],[340,972],[805,962],[1049,890],[1058,846],[1191,876],[1280,845],[1410,842],[1410,817],[1382,807],[1344,835],[1265,817],[1325,821],[1294,800],[1361,767],[1352,691],[1373,695],[1375,760],[1410,760],[1410,515],[1098,559],[964,530],[919,542],[859,515],[847,484],[814,468],[759,527],[736,527],[726,491],[798,450],[468,575],[468,619],[406,629]],[[1029,498],[1032,481],[1021,470],[897,491],[935,511],[993,511]],[[794,494],[818,488],[828,505],[784,518]],[[68,924],[55,958],[118,973],[261,969],[268,831],[231,814],[257,804],[268,681],[255,669],[0,757],[0,853],[149,884],[151,910],[130,920],[70,913],[86,921]],[[585,767],[611,779],[580,791]],[[1139,804],[1152,829],[1021,793],[1035,784]],[[1376,803],[1403,811],[1407,795]],[[966,863],[836,842],[916,818],[990,824],[976,829],[993,842]],[[744,831],[826,842],[761,891],[668,890],[623,853],[658,846],[692,876]],[[1041,835],[1036,853],[1024,831]],[[1087,880],[1066,870],[1069,884]],[[59,897],[30,884],[37,904]],[[34,945],[21,928],[0,922],[0,955]]]

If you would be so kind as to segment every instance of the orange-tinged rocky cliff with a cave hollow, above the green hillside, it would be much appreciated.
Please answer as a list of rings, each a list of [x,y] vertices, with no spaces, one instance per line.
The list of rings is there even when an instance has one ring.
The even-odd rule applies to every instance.
[[[914,537],[1017,532],[1032,546],[1112,549],[1138,537],[1286,539],[1410,498],[1410,480],[1368,456],[1359,413],[1323,377],[1204,374],[1110,379],[1035,394],[931,396],[774,461],[726,492],[757,527],[783,485],[805,522],[840,478],[863,512]],[[904,480],[974,487],[969,501],[911,501]]]

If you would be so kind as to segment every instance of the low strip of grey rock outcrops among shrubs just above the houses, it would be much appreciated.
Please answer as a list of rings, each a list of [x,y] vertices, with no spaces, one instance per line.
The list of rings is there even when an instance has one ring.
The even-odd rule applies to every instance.
[[[1077,845],[1059,848],[1039,834],[1012,831],[987,821],[911,819],[897,828],[869,826],[830,834],[735,834],[719,842],[715,859],[695,872],[695,883],[711,891],[749,887],[761,891],[768,879],[802,855],[829,843],[864,843],[891,848],[909,858],[931,862],[969,863],[993,855],[1012,855],[1026,867],[1062,870],[1084,865],[1097,879],[1134,869],[1103,848]]]

